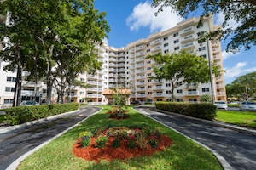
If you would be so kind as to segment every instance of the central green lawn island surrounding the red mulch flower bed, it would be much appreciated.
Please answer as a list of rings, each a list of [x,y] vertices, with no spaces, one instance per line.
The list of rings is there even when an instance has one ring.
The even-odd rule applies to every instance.
[[[217,158],[210,151],[132,110],[131,107],[129,107],[131,117],[125,120],[108,119],[109,115],[105,113],[111,106],[102,107],[104,107],[102,111],[90,116],[78,127],[74,127],[28,156],[21,162],[18,169],[222,169]],[[161,133],[172,139],[173,144],[153,156],[141,156],[125,161],[113,160],[96,163],[73,156],[73,144],[79,138],[79,133],[96,127],[107,127],[109,124],[113,126],[148,124],[150,127],[160,129]]]

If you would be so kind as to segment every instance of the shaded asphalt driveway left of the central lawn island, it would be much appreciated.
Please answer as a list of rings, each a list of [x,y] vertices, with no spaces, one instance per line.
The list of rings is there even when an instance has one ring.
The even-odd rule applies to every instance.
[[[29,150],[43,144],[55,135],[63,132],[68,127],[72,127],[77,122],[92,115],[100,108],[87,106],[80,111],[60,116],[55,120],[38,122],[31,126],[20,127],[7,133],[0,134],[0,170],[4,170],[9,165],[26,154]]]

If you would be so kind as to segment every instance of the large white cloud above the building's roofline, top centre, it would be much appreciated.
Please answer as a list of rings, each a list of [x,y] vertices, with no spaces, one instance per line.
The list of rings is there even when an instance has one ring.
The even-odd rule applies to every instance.
[[[133,8],[133,12],[126,19],[126,25],[130,27],[131,31],[138,31],[141,27],[150,27],[150,32],[165,31],[177,23],[182,21],[183,18],[178,16],[177,13],[171,13],[172,8],[165,8],[157,16],[154,13],[158,8],[151,8],[151,3],[139,3]]]

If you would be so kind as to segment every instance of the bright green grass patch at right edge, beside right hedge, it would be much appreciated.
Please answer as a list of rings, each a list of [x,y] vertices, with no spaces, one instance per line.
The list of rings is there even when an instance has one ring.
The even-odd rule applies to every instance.
[[[256,112],[251,111],[218,111],[216,120],[235,124],[241,127],[252,127],[256,129]]]

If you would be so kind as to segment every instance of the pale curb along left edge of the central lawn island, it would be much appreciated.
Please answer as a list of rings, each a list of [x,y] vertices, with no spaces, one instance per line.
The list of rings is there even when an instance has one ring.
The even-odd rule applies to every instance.
[[[99,110],[99,111],[102,111],[102,109]],[[95,114],[96,114],[97,112],[99,112],[99,111],[96,111],[95,113],[93,113],[93,114],[90,115],[90,116],[95,115]],[[70,113],[70,112],[67,112],[67,113]],[[66,113],[66,114],[67,114],[67,113]],[[6,168],[6,170],[14,170],[14,169],[16,169],[16,168],[20,165],[20,162],[23,161],[23,160],[25,160],[27,156],[32,155],[32,153],[34,153],[35,151],[37,151],[37,150],[39,150],[40,148],[44,147],[44,145],[49,144],[49,142],[51,142],[52,140],[54,140],[54,139],[60,137],[60,136],[61,136],[62,134],[64,134],[64,133],[67,133],[67,131],[69,131],[69,130],[72,129],[73,127],[77,127],[81,122],[84,122],[84,121],[85,121],[86,119],[88,119],[90,116],[88,116],[88,117],[86,117],[85,119],[83,119],[82,121],[76,123],[76,124],[73,125],[72,127],[68,127],[68,128],[67,128],[66,130],[64,130],[62,133],[59,133],[59,134],[55,135],[53,138],[51,138],[51,139],[45,141],[43,144],[40,144],[40,145],[38,145],[37,147],[35,147],[34,149],[32,149],[32,150],[26,152],[26,154],[24,154],[23,156],[20,156],[18,159],[16,159],[15,161],[13,161],[13,162],[9,165],[9,167]]]

